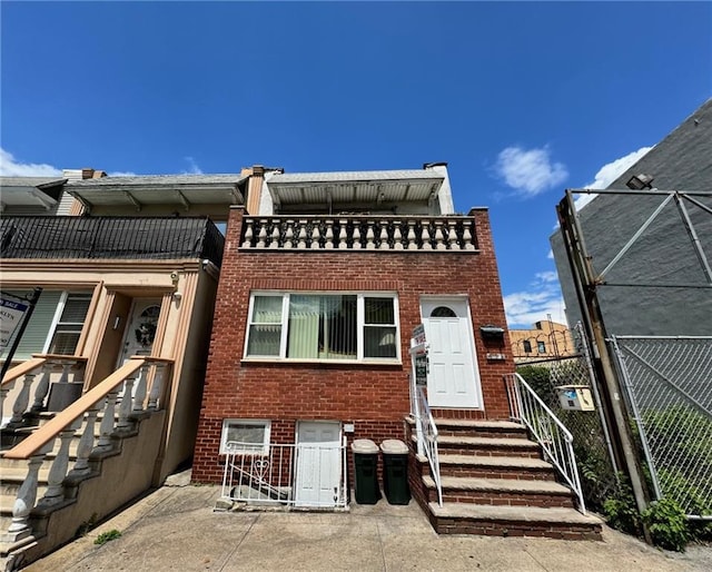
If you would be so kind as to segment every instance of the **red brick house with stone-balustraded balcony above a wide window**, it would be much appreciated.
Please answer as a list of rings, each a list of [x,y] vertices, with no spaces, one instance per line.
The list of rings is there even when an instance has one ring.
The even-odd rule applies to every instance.
[[[487,210],[451,214],[443,165],[264,180],[260,213],[228,221],[194,481],[220,481],[229,440],[299,443],[315,422],[327,442],[404,438],[421,323],[434,414],[508,418]]]

